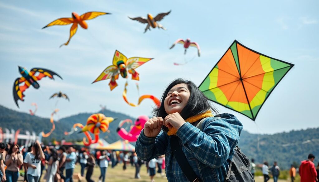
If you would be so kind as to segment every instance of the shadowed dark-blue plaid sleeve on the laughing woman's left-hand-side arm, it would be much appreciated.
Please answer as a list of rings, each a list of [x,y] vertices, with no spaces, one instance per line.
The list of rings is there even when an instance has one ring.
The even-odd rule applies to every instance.
[[[143,129],[135,144],[137,157],[143,161],[149,162],[155,157],[164,155],[168,145],[168,140],[165,135],[164,132],[161,132],[157,137],[149,138],[144,135]]]

